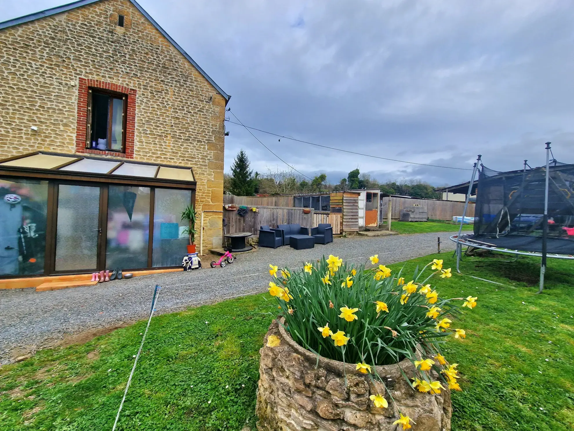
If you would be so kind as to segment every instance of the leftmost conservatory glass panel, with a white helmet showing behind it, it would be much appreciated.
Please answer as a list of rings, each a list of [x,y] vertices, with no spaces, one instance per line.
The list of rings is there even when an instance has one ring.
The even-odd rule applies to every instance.
[[[48,182],[0,178],[0,275],[44,274]]]

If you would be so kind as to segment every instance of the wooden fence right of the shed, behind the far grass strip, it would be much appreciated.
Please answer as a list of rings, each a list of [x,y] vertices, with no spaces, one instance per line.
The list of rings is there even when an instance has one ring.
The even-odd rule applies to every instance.
[[[387,217],[389,199],[391,199],[391,217],[393,220],[398,220],[402,209],[414,204],[426,207],[428,218],[432,220],[452,220],[453,216],[462,216],[464,211],[464,202],[386,197],[381,199],[381,211],[379,211],[381,214],[379,222],[381,223]],[[474,217],[474,205],[474,202],[468,202],[467,217]]]

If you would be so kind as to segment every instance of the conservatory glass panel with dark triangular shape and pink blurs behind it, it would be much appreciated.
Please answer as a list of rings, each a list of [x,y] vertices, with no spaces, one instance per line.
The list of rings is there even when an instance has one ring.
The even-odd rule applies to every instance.
[[[106,268],[147,268],[149,187],[110,186]]]

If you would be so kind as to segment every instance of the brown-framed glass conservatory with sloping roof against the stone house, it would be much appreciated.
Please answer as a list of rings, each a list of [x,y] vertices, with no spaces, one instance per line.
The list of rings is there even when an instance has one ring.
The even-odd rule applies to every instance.
[[[170,268],[195,203],[190,168],[34,152],[0,160],[0,277]]]

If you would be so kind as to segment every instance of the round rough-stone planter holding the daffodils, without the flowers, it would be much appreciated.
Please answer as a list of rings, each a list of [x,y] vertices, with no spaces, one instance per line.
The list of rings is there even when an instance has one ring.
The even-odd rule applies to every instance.
[[[276,347],[267,345],[270,335],[278,337]],[[295,343],[277,320],[269,327],[259,352],[256,407],[259,431],[402,430],[401,425],[392,425],[398,419],[398,411],[380,382],[373,383],[369,375],[355,371],[354,364],[321,356],[317,361],[317,356]],[[414,376],[415,368],[409,360],[400,365],[409,378]],[[397,364],[376,369],[385,379],[401,412],[416,422],[412,431],[451,429],[448,389],[442,390],[440,395],[425,394],[406,383]],[[433,378],[437,379],[437,376]],[[373,405],[369,396],[377,393],[387,399],[388,408],[378,409]]]

